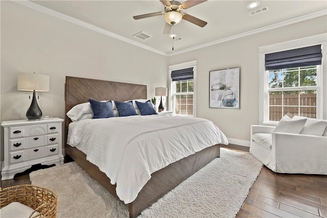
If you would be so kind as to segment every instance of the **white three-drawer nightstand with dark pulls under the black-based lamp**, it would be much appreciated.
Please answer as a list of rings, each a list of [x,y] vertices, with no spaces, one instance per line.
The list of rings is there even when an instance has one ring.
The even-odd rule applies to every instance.
[[[3,121],[4,168],[1,180],[12,179],[35,164],[63,164],[62,122],[60,118]]]

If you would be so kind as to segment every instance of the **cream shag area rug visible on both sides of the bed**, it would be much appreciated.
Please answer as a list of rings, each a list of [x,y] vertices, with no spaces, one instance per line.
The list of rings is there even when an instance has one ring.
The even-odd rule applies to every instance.
[[[248,153],[221,149],[220,158],[200,169],[145,209],[146,217],[235,217],[262,163]],[[58,217],[129,217],[116,200],[75,162],[30,174],[32,184],[58,196]]]

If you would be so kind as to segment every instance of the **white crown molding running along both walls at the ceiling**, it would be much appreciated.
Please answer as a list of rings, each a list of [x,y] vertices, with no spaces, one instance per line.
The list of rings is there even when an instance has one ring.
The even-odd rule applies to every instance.
[[[319,16],[327,15],[327,9],[323,9],[323,10],[316,11],[316,12],[313,12],[313,13],[310,13],[310,14],[298,16],[298,17],[295,17],[295,18],[292,18],[292,19],[289,19],[289,20],[274,23],[272,25],[268,25],[268,26],[261,27],[261,28],[256,28],[256,29],[253,29],[253,30],[250,30],[250,31],[246,31],[246,32],[239,33],[239,34],[236,34],[236,35],[228,36],[228,37],[221,38],[221,39],[218,39],[218,40],[215,40],[215,41],[203,43],[203,44],[200,44],[200,45],[190,47],[188,49],[184,49],[184,50],[180,50],[180,51],[176,51],[176,52],[168,54],[168,53],[153,49],[153,47],[144,45],[142,43],[139,43],[139,42],[133,41],[131,39],[128,39],[126,37],[123,37],[123,36],[120,36],[118,34],[112,33],[110,31],[104,30],[104,29],[102,29],[100,27],[97,27],[95,25],[91,25],[88,22],[82,21],[80,19],[65,15],[65,14],[60,13],[58,11],[52,10],[50,8],[46,8],[44,6],[41,6],[41,5],[38,5],[36,3],[30,2],[28,0],[19,0],[19,1],[11,0],[11,1],[14,2],[14,3],[20,4],[20,5],[26,6],[28,8],[32,8],[34,10],[49,14],[51,16],[66,20],[68,22],[75,23],[76,25],[85,27],[87,29],[96,31],[98,33],[101,33],[101,34],[104,34],[104,35],[107,35],[107,36],[110,36],[110,37],[113,37],[115,39],[119,39],[121,41],[130,43],[132,45],[142,47],[143,49],[146,49],[146,50],[149,50],[151,52],[154,52],[154,53],[157,53],[157,54],[160,54],[160,55],[164,55],[164,56],[167,56],[167,57],[171,57],[171,56],[174,56],[174,55],[179,55],[179,54],[182,54],[182,53],[185,53],[185,52],[190,52],[190,51],[197,50],[197,49],[202,49],[203,47],[223,43],[223,42],[238,39],[238,38],[241,38],[241,37],[244,37],[244,36],[249,36],[249,35],[253,35],[253,34],[256,34],[256,33],[261,33],[261,32],[264,32],[264,31],[272,30],[272,29],[275,29],[275,28],[291,25],[291,24],[296,23],[296,22],[301,22],[301,21],[309,20],[309,19],[316,18],[316,17],[319,17]]]

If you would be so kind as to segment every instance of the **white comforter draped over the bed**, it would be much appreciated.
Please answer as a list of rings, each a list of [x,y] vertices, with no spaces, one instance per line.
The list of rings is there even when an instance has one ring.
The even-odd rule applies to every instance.
[[[118,197],[128,204],[153,172],[228,141],[207,119],[150,115],[71,123],[67,143],[84,152],[86,159],[116,184]]]

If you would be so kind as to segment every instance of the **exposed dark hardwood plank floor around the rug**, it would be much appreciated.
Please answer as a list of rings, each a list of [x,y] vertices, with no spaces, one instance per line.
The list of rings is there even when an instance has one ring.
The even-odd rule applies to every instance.
[[[248,152],[249,148],[229,144],[224,148]],[[65,159],[65,162],[71,161]],[[1,187],[31,184],[25,172]],[[243,217],[327,217],[327,176],[276,174],[263,167],[236,218]]]

